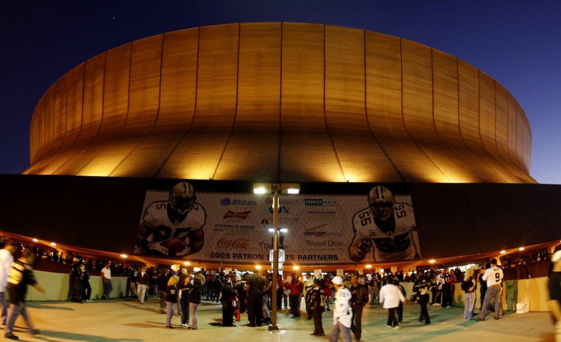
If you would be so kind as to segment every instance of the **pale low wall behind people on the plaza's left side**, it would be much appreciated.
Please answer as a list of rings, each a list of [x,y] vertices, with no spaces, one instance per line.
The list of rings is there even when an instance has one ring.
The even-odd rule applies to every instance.
[[[42,286],[46,295],[29,286],[26,300],[67,300],[70,288],[70,275],[64,273],[52,273],[34,271],[35,279]],[[125,297],[127,277],[111,277],[113,291],[111,297]],[[91,276],[91,299],[102,298],[103,280],[101,276]]]

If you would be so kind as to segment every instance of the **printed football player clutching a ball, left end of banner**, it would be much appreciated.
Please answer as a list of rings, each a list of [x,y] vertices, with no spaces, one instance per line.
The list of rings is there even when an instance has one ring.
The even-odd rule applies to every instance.
[[[135,254],[184,257],[198,252],[204,244],[206,213],[203,206],[195,203],[195,199],[193,186],[181,182],[169,191],[167,201],[151,203],[144,212],[144,222],[137,233]],[[169,242],[174,243],[171,252]]]

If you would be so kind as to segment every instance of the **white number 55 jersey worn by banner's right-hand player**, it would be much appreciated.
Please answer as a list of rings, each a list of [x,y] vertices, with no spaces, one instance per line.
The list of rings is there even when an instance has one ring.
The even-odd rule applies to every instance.
[[[370,207],[353,217],[355,239],[373,242],[376,262],[415,259],[421,254],[413,208],[406,203],[394,203],[393,206],[393,220],[389,220],[393,222],[389,225],[377,224],[376,221],[380,221]]]

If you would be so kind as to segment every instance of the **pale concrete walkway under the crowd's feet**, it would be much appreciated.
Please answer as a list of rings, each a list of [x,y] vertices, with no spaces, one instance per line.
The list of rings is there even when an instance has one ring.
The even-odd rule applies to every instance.
[[[327,341],[332,314],[323,314],[327,336],[310,336],[313,321],[306,316],[291,319],[281,311],[278,315],[281,331],[270,332],[266,326],[247,327],[247,315],[236,327],[222,327],[222,305],[203,300],[199,305],[198,330],[180,326],[180,318],[173,318],[176,329],[165,327],[165,315],[159,313],[159,301],[150,298],[144,305],[135,300],[95,300],[94,303],[29,302],[27,308],[40,330],[30,335],[24,321],[16,322],[15,334],[21,341]],[[485,322],[463,320],[463,308],[429,307],[431,325],[417,320],[419,305],[408,304],[404,310],[400,330],[385,326],[387,313],[380,305],[368,304],[362,317],[362,341],[554,341],[554,327],[549,313],[516,314],[505,312],[494,321],[488,314]],[[339,338],[342,341],[342,338]]]

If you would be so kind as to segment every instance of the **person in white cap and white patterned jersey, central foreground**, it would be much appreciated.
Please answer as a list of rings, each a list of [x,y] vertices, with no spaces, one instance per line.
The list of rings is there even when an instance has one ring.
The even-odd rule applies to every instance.
[[[335,305],[333,307],[333,329],[331,330],[331,336],[329,336],[329,342],[337,341],[339,332],[343,334],[343,341],[351,342],[352,309],[349,302],[352,294],[351,291],[342,286],[342,277],[335,276],[331,282],[337,292],[335,293]]]

